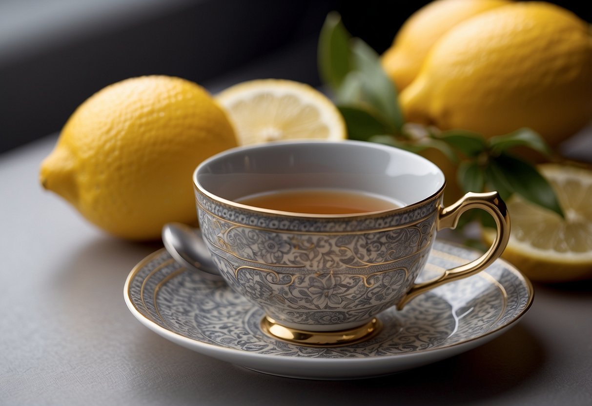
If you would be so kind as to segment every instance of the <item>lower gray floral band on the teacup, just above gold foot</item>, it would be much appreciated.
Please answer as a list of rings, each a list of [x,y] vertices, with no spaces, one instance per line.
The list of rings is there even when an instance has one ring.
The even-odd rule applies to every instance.
[[[226,274],[230,286],[263,308],[278,321],[298,324],[334,324],[364,321],[396,304],[407,291],[408,283],[423,268],[426,253],[418,253],[374,272],[303,273],[301,268],[256,268],[248,262],[230,263],[223,254],[214,256],[218,268]],[[411,278],[407,278],[407,274]]]

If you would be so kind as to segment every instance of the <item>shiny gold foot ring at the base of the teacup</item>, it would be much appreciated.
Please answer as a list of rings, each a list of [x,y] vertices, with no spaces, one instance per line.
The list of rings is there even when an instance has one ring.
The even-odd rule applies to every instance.
[[[359,343],[374,337],[382,328],[382,323],[373,318],[363,326],[337,331],[307,331],[285,327],[271,317],[263,317],[261,330],[269,337],[308,347],[338,347]]]

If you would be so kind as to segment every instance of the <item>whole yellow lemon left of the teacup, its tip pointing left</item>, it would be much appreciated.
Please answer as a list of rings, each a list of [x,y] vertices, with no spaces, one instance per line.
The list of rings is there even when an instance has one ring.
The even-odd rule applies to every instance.
[[[40,181],[108,233],[156,239],[168,221],[196,220],[193,170],[236,144],[226,114],[201,86],[130,78],[73,112]]]

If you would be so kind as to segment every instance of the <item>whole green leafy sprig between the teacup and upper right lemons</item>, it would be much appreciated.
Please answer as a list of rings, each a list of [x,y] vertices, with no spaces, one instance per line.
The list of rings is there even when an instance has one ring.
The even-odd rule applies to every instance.
[[[321,80],[333,91],[350,139],[414,153],[435,148],[458,167],[456,181],[464,192],[496,190],[503,199],[518,194],[564,217],[554,190],[536,165],[513,153],[521,147],[551,158],[551,149],[538,133],[520,128],[485,138],[472,131],[439,131],[406,123],[397,89],[382,69],[379,55],[349,34],[336,12],[327,15],[321,29],[318,70]]]

